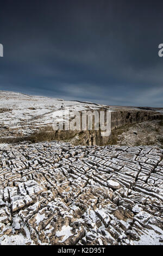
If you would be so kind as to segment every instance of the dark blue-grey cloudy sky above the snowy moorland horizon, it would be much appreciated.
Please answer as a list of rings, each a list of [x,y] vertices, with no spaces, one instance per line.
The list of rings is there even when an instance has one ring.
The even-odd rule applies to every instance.
[[[7,1],[0,89],[162,106],[160,1]]]

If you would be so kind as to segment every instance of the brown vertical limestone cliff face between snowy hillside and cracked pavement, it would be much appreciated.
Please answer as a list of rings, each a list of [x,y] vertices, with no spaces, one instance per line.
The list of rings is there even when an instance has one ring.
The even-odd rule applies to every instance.
[[[53,140],[62,140],[62,141],[70,141],[74,145],[106,145],[106,144],[114,144],[112,142],[112,137],[117,137],[119,133],[123,132],[123,127],[132,127],[134,124],[144,123],[149,121],[149,127],[153,124],[154,120],[162,120],[163,115],[153,112],[153,111],[115,111],[111,112],[111,135],[109,137],[102,137],[101,131],[51,131],[45,132],[43,136],[40,135],[33,135],[32,140],[34,142],[39,142],[42,138],[43,141],[47,139]],[[147,126],[148,126],[147,125]],[[155,125],[155,123],[153,124]],[[121,129],[122,128],[122,129]],[[158,129],[158,127],[156,127]],[[120,132],[121,131],[121,132]],[[40,139],[38,138],[40,137]],[[139,135],[138,135],[139,136]],[[41,139],[41,141],[42,141]],[[116,139],[117,141],[117,139]],[[142,143],[141,143],[142,142]],[[116,144],[116,142],[115,142]],[[140,144],[144,144],[143,141],[140,139]]]

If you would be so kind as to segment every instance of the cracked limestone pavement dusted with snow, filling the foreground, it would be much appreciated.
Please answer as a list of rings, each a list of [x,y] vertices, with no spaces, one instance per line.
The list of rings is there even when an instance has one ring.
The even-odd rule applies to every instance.
[[[0,144],[0,244],[162,245],[162,153]]]

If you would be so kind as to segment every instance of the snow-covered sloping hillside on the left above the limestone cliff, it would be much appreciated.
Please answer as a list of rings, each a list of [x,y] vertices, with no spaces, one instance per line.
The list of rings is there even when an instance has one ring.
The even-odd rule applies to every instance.
[[[60,121],[67,110],[75,112],[101,107],[90,102],[65,101],[0,90],[0,109],[4,109],[0,112],[1,134],[4,137],[30,135],[40,127],[53,125],[54,119]]]

